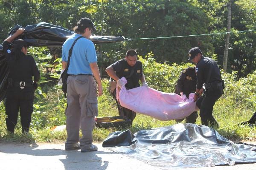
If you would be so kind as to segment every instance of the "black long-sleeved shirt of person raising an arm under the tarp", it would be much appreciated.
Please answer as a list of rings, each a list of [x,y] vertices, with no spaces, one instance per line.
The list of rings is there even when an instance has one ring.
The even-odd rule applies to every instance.
[[[34,76],[34,81],[39,81],[40,72],[32,56],[24,54],[19,59],[16,59],[11,53],[8,41],[3,42],[3,51],[10,69],[9,78],[12,78],[13,82],[24,81],[32,83],[32,76]]]

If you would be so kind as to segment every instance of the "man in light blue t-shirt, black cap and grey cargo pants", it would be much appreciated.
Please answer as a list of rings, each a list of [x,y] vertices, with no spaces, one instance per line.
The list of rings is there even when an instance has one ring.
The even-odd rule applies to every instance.
[[[76,39],[82,36],[73,46],[67,70],[69,76],[67,78],[65,150],[81,148],[81,152],[90,152],[98,149],[92,144],[94,116],[98,116],[97,89],[94,78],[98,83],[98,96],[101,96],[103,92],[95,47],[89,40],[96,28],[89,18],[82,18],[74,31],[76,34],[69,37],[62,46],[62,68],[65,69],[71,46]],[[80,127],[83,136],[79,140]]]

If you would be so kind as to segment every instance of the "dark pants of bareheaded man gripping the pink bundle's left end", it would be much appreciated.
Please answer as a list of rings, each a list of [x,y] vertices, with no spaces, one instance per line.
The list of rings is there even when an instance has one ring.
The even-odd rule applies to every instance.
[[[132,122],[136,117],[136,113],[134,111],[131,111],[128,108],[124,108],[120,105],[120,103],[116,99],[116,89],[113,91],[113,97],[116,100],[116,105],[118,107],[119,116],[123,116],[127,119],[130,119],[131,120],[131,125],[132,125]]]

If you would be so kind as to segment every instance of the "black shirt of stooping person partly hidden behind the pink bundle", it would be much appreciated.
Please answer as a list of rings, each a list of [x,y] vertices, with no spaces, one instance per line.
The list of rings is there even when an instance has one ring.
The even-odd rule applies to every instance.
[[[188,96],[190,93],[195,92],[196,88],[196,74],[195,67],[184,69],[177,80],[178,91]]]

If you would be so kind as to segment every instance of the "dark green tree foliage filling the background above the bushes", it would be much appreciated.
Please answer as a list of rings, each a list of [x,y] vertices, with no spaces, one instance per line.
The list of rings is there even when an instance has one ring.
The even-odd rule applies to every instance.
[[[170,37],[226,32],[227,3],[230,0],[1,0],[0,40],[10,28],[47,22],[72,30],[82,17],[96,25],[96,35],[127,38]],[[232,31],[256,28],[256,0],[231,0]],[[256,68],[256,31],[231,34],[227,71],[239,77]],[[225,34],[132,40],[96,45],[99,66],[104,69],[123,58],[129,48],[144,56],[154,54],[157,62],[187,62],[190,48],[198,46],[206,57],[222,65]],[[61,54],[59,53],[59,56]],[[53,61],[53,60],[52,60]],[[103,74],[104,72],[102,72]]]

